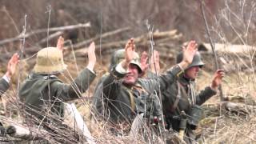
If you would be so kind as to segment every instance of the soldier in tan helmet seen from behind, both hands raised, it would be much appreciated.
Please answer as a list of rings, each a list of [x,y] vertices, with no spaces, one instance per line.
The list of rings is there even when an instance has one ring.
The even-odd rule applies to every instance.
[[[19,97],[24,104],[25,110],[30,114],[28,120],[34,120],[49,128],[51,124],[59,124],[63,118],[63,103],[79,98],[94,80],[94,42],[90,43],[88,50],[89,62],[87,67],[78,74],[71,84],[65,84],[58,75],[66,70],[63,62],[63,38],[58,39],[57,48],[47,47],[37,54],[37,61],[32,74],[23,82]],[[30,122],[30,121],[27,121]]]

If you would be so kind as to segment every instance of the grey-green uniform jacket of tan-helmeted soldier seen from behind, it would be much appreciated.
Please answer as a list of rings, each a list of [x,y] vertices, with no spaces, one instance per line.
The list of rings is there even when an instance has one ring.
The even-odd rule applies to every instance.
[[[54,74],[31,74],[19,90],[19,97],[24,103],[25,110],[42,120],[50,110],[50,120],[63,117],[63,103],[79,98],[94,80],[95,74],[88,69],[82,70],[72,84],[65,84]]]

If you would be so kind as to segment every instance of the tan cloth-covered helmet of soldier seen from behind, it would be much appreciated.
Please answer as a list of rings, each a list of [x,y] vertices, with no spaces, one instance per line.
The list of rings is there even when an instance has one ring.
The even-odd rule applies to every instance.
[[[56,47],[46,47],[38,51],[34,73],[57,74],[66,70],[63,54]]]

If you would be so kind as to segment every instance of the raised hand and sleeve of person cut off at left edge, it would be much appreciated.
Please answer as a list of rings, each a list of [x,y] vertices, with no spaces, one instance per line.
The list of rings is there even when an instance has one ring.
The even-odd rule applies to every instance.
[[[6,74],[2,78],[0,78],[0,97],[10,87],[10,78],[14,74],[18,62],[19,56],[17,53],[15,53],[8,62]]]

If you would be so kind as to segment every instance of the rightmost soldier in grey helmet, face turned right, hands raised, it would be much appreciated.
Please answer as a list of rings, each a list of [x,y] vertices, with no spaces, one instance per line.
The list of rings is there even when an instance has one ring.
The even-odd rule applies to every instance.
[[[190,42],[189,45],[197,46],[195,42]],[[179,72],[172,75],[171,80],[166,83],[168,85],[166,90],[162,91],[162,110],[165,115],[166,128],[179,132],[181,137],[185,133],[186,143],[194,143],[193,130],[196,129],[202,116],[200,106],[217,93],[224,76],[223,70],[217,70],[211,85],[197,94],[194,81],[202,66],[204,63],[197,51],[189,54],[183,50],[183,53],[178,54],[177,65],[171,71],[175,71],[175,67],[181,69],[177,69]]]

